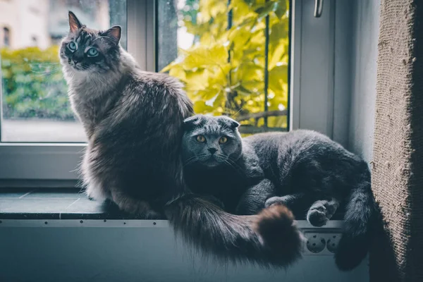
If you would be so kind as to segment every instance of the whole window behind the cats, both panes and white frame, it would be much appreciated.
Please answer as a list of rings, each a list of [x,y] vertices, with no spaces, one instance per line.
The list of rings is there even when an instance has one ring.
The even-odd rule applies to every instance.
[[[30,14],[10,17],[7,26],[21,39],[1,49],[0,186],[74,185],[78,178],[85,135],[69,108],[56,56],[68,10],[87,25],[123,26],[123,47],[141,68],[180,78],[197,112],[234,116],[245,124],[244,134],[310,128],[337,141],[348,135],[348,96],[337,84],[341,68],[348,68],[342,61],[348,49],[341,48],[348,35],[335,29],[342,20],[336,11],[345,5],[334,0],[324,2],[320,18],[314,18],[314,0],[39,3],[37,13],[19,9]],[[0,25],[14,11],[0,5]],[[31,20],[12,21],[21,18]],[[32,36],[37,47],[30,56],[24,51]]]

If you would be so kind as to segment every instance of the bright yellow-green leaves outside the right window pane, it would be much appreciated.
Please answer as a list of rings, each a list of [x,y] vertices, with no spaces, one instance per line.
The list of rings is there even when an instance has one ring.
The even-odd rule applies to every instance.
[[[265,18],[269,16],[268,108],[288,107],[288,0],[200,0],[188,32],[199,39],[161,72],[185,83],[197,114],[240,115],[264,111]],[[232,9],[232,27],[228,13]],[[243,123],[263,125],[263,119]],[[257,124],[256,124],[257,123]],[[270,127],[286,127],[286,116],[268,118]]]

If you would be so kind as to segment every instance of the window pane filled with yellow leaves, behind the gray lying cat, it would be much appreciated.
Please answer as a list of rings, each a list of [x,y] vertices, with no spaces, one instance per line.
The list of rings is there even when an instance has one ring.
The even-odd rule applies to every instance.
[[[251,134],[288,128],[288,0],[159,0],[157,71],[183,82],[197,114]]]

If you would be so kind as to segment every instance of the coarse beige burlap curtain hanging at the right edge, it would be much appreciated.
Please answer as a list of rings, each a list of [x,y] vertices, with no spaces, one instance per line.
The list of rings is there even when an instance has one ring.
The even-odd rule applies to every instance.
[[[373,1],[373,0],[369,0]],[[381,0],[371,281],[423,281],[423,0]]]

